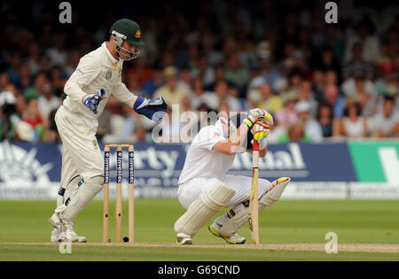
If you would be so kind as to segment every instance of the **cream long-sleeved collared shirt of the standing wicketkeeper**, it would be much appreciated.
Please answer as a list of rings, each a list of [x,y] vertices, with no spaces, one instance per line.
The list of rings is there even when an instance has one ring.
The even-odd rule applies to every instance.
[[[123,60],[113,58],[106,48],[106,42],[97,50],[83,56],[74,74],[69,77],[64,87],[66,99],[63,105],[69,112],[78,113],[88,120],[97,120],[104,111],[108,98],[113,94],[121,102],[133,107],[137,97],[121,82]],[[98,113],[90,112],[82,103],[82,97],[93,94],[100,89],[106,90],[98,105]],[[93,122],[93,125],[96,125]]]

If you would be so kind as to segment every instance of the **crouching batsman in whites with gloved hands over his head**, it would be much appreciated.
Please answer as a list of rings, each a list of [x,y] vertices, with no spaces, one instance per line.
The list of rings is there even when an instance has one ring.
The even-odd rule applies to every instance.
[[[271,114],[255,108],[233,114],[229,120],[220,117],[215,125],[200,129],[179,177],[177,197],[187,211],[175,223],[177,244],[192,244],[192,237],[208,220],[230,207],[208,229],[229,244],[246,243],[239,230],[249,218],[252,177],[226,173],[237,152],[252,153],[254,140],[259,143],[259,156],[266,155],[271,125]],[[259,179],[259,212],[278,201],[288,182],[288,177],[273,182]]]

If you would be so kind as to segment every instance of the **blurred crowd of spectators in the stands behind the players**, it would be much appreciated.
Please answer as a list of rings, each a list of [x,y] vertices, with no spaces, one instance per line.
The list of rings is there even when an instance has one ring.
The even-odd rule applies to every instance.
[[[160,138],[195,136],[187,125],[203,120],[184,112],[254,107],[274,117],[270,143],[397,138],[399,8],[354,3],[340,4],[339,22],[327,24],[321,1],[172,2],[160,12],[117,2],[96,22],[72,2],[69,25],[45,2],[4,4],[0,140],[59,141],[54,114],[68,76],[121,17],[136,20],[145,41],[139,57],[124,65],[122,80],[136,95],[162,96],[169,105]],[[152,142],[153,127],[111,97],[98,138]]]

